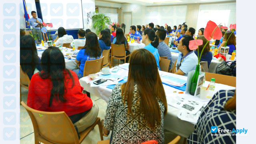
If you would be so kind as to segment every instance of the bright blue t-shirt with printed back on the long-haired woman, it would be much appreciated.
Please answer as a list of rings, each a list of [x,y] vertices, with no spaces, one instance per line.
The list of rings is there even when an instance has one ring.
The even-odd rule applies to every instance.
[[[79,74],[83,75],[84,74],[84,65],[85,65],[85,62],[86,60],[96,60],[96,59],[99,59],[99,58],[92,58],[90,56],[88,56],[87,54],[84,54],[85,52],[85,48],[84,49],[81,49],[77,56],[76,56],[76,60],[80,61],[81,64],[80,64],[80,70],[79,70]],[[102,57],[102,54],[100,56],[100,58]]]

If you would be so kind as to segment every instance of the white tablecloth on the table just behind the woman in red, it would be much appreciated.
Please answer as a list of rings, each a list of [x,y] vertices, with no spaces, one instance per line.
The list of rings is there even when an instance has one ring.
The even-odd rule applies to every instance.
[[[47,43],[44,43],[44,46],[47,46]],[[47,49],[46,47],[42,46],[42,44],[40,44],[40,46],[36,46],[36,48],[43,48],[43,49]],[[64,48],[64,47],[63,47]],[[63,54],[74,54],[74,51],[71,51],[72,48],[68,48],[68,51],[64,51],[62,50]],[[78,50],[79,51],[79,50]],[[44,51],[37,51],[39,58],[42,58],[42,54]],[[66,68],[69,70],[74,70],[76,68],[76,58],[73,58],[74,60],[69,60],[65,58],[65,64],[66,64]]]

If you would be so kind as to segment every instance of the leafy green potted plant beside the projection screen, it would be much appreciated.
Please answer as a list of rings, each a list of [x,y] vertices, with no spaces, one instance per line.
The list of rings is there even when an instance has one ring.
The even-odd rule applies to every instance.
[[[96,30],[97,35],[101,30],[108,28],[108,25],[111,24],[110,17],[105,14],[95,14],[92,16],[93,29]]]

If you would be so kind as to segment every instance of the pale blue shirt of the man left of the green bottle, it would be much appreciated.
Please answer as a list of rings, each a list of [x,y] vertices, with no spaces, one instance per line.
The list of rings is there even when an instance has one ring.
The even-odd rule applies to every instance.
[[[179,64],[180,70],[185,73],[184,76],[188,76],[188,72],[191,70],[196,70],[196,65],[198,64],[196,54],[192,51],[188,52],[186,56],[183,56],[183,54],[180,52],[176,63],[176,72],[178,71],[177,66]]]

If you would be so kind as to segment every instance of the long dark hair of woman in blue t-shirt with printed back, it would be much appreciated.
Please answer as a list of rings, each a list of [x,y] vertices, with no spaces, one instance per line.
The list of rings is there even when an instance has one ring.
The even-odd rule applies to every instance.
[[[82,48],[85,48],[84,55],[89,55],[91,58],[100,58],[101,52],[100,52],[100,44],[98,41],[98,37],[94,32],[88,32],[85,35],[86,41],[85,46]]]

